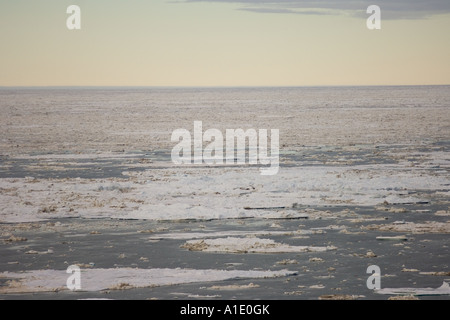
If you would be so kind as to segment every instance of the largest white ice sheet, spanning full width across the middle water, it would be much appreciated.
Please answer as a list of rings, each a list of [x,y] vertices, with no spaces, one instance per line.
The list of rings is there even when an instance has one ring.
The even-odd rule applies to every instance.
[[[448,174],[400,165],[166,168],[129,179],[0,179],[0,222],[82,217],[149,220],[294,218],[301,206],[375,206],[423,201],[448,189]],[[413,191],[413,192],[410,192]],[[426,200],[426,199],[425,199]],[[285,208],[285,209],[283,209]]]

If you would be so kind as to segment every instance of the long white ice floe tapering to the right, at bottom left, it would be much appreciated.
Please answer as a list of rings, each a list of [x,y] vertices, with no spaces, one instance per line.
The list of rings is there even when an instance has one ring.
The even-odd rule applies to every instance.
[[[288,270],[199,270],[199,269],[84,269],[81,270],[81,291],[132,289],[169,286],[195,282],[230,279],[275,278],[294,275]],[[9,279],[0,293],[50,292],[67,290],[69,274],[65,270],[33,270],[21,273],[3,272],[0,278]]]

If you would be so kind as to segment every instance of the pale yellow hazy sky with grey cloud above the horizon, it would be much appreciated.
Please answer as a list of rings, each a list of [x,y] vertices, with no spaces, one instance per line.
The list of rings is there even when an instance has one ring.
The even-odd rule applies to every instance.
[[[0,86],[448,85],[449,30],[448,0],[0,0]]]

